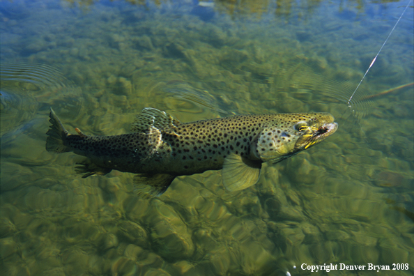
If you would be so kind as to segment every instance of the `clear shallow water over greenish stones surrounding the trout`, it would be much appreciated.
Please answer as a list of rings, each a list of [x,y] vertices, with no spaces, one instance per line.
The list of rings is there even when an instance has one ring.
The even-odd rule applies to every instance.
[[[302,263],[346,263],[378,275],[368,263],[408,263],[381,274],[412,275],[413,86],[375,95],[413,82],[413,8],[346,105],[405,6],[1,1],[1,271],[307,275]],[[38,81],[6,77],[16,64]],[[247,190],[208,171],[141,199],[132,174],[82,179],[79,157],[47,153],[49,107],[93,135],[128,132],[143,107],[181,121],[330,112],[339,130]]]

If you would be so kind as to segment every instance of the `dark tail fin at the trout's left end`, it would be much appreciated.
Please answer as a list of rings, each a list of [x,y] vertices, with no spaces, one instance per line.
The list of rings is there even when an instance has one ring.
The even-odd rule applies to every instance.
[[[50,129],[46,132],[46,150],[54,153],[71,151],[68,146],[65,146],[65,139],[68,136],[68,132],[63,127],[52,108],[50,108],[49,117],[49,122],[52,123],[52,125],[50,125]]]

